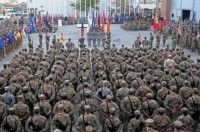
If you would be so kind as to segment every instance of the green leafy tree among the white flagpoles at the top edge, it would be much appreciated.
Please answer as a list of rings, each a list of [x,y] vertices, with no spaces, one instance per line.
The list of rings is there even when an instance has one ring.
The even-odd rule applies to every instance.
[[[77,2],[72,3],[71,6],[74,8],[76,7],[76,9],[80,11],[80,4],[81,4],[81,11],[84,11],[86,2],[86,11],[88,11],[90,8],[90,1],[91,1],[91,7],[98,10],[100,0],[78,0]]]

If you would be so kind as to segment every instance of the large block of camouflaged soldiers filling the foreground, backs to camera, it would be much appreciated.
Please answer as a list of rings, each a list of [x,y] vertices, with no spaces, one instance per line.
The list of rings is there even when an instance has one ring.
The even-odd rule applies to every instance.
[[[2,132],[198,131],[199,60],[147,38],[103,50],[55,38],[0,72]]]

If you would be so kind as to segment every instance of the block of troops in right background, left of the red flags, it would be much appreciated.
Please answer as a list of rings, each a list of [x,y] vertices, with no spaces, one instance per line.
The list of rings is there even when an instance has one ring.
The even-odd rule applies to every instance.
[[[121,28],[128,31],[147,31],[151,28],[151,20],[141,18],[139,20],[125,21]]]

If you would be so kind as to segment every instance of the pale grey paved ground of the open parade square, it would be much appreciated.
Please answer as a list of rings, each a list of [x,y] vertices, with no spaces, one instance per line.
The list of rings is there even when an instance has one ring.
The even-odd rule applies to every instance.
[[[118,24],[111,25],[111,31],[112,31],[112,44],[116,44],[117,47],[121,47],[122,44],[124,44],[127,47],[131,47],[132,44],[134,43],[134,40],[137,38],[137,36],[139,34],[143,39],[145,36],[149,36],[149,33],[150,33],[150,31],[138,31],[138,32],[125,31],[125,30],[121,29],[120,25],[118,25]],[[76,25],[59,27],[58,31],[54,34],[57,36],[60,36],[61,33],[64,33],[66,41],[69,38],[71,38],[73,42],[78,44],[80,29],[78,29],[76,27]],[[32,34],[31,36],[33,38],[34,49],[35,49],[39,43],[38,34]],[[53,34],[51,34],[51,38],[52,38],[52,36],[53,36]],[[27,37],[25,37],[23,40],[23,45],[15,52],[7,55],[6,58],[4,58],[0,62],[0,70],[3,68],[4,63],[9,63],[12,60],[14,54],[18,53],[22,48],[28,47],[27,42],[28,42]],[[168,40],[167,44],[171,45],[171,41]],[[43,45],[43,48],[45,49],[45,44]],[[184,51],[186,54],[191,54],[192,58],[194,58],[195,60],[197,58],[200,58],[200,56],[197,55],[196,53],[191,53],[188,50],[184,50]]]

